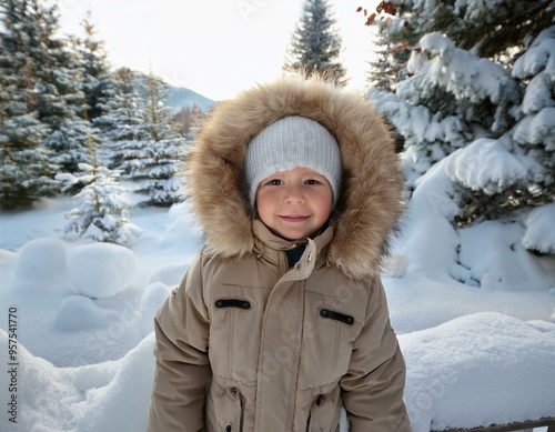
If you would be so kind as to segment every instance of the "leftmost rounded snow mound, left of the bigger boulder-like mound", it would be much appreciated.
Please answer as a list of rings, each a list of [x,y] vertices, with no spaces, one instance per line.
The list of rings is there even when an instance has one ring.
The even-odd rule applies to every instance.
[[[67,282],[65,248],[57,238],[28,242],[19,252],[16,285],[47,292],[71,292]]]

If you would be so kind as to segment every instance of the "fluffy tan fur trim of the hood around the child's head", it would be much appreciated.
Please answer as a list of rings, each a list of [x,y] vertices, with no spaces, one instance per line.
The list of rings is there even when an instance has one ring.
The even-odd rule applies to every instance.
[[[258,86],[219,103],[201,125],[185,175],[206,249],[228,258],[253,251],[254,210],[243,180],[246,147],[287,115],[320,122],[340,145],[343,179],[329,260],[350,278],[375,275],[403,211],[404,179],[394,140],[367,100],[320,79],[284,77]]]

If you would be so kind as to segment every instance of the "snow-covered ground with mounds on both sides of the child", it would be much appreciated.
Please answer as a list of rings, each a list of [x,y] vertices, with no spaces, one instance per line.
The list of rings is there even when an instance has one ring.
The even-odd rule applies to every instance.
[[[555,210],[457,231],[450,184],[422,179],[384,269],[413,431],[555,416],[555,257],[523,245],[553,239]],[[145,428],[152,317],[199,230],[185,204],[143,208],[129,249],[92,243],[63,233],[73,205],[0,213],[2,431]]]

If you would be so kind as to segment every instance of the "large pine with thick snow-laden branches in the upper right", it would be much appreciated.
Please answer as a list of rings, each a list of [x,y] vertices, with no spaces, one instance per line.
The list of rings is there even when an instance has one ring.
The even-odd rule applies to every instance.
[[[391,38],[413,44],[411,77],[373,96],[405,138],[411,185],[453,153],[462,223],[553,202],[553,1],[394,3],[405,9]]]

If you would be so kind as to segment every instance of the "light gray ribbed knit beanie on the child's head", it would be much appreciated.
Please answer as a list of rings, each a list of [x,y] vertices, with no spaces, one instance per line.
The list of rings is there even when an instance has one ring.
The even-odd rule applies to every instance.
[[[335,207],[342,171],[337,141],[317,121],[297,115],[268,125],[249,143],[244,175],[251,205],[254,208],[262,180],[296,167],[310,168],[327,179]]]

